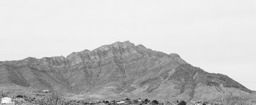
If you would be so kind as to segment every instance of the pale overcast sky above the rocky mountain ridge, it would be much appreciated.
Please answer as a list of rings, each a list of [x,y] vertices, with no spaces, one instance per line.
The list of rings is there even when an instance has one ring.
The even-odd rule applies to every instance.
[[[255,35],[254,0],[0,1],[0,61],[130,40],[256,90]]]

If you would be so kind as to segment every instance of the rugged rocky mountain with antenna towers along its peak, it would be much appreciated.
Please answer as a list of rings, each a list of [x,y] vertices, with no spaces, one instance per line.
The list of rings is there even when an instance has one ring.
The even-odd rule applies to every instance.
[[[2,87],[59,88],[76,95],[74,99],[210,100],[221,95],[221,86],[215,81],[227,92],[252,93],[226,75],[188,64],[178,54],[153,51],[129,41],[73,52],[66,58],[2,61],[0,72]]]

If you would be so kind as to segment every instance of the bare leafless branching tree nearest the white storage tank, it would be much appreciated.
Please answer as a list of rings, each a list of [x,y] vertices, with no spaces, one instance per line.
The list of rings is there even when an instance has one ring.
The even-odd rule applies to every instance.
[[[60,90],[54,90],[51,94],[48,94],[44,97],[43,100],[37,100],[39,105],[66,105],[65,100],[67,96],[62,94]]]

